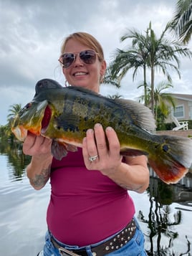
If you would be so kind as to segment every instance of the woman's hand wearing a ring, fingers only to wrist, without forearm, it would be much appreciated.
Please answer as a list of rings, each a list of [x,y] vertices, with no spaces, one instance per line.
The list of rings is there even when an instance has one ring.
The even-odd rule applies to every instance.
[[[82,153],[88,170],[99,170],[107,176],[115,172],[122,161],[117,133],[111,127],[104,131],[100,123],[95,124],[94,129],[87,130]],[[91,161],[94,156],[95,160]]]

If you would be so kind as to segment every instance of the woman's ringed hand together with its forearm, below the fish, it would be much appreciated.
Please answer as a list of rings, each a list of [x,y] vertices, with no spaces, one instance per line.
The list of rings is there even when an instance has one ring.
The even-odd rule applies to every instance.
[[[82,153],[88,170],[101,171],[127,190],[143,193],[148,188],[149,170],[146,156],[125,156],[125,162],[122,162],[120,142],[111,127],[104,131],[102,125],[97,123],[94,130],[89,129],[83,139]],[[97,158],[90,161],[90,157],[94,156]]]

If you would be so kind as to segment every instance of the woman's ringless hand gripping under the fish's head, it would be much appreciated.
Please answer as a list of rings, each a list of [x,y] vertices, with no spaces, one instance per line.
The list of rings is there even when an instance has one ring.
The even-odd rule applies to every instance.
[[[23,152],[29,156],[51,155],[52,139],[43,136],[36,136],[33,133],[27,134],[23,143]]]

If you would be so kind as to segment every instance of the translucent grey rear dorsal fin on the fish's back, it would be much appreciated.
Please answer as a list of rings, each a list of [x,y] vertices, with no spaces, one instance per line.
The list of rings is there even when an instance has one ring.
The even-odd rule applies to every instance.
[[[114,101],[128,112],[134,125],[146,131],[155,131],[155,119],[150,108],[134,100],[115,99]]]

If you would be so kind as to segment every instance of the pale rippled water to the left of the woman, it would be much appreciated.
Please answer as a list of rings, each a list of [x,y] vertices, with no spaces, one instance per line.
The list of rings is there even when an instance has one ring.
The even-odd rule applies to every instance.
[[[0,255],[36,256],[44,245],[49,184],[40,191],[27,176],[14,176],[8,156],[0,155]]]

